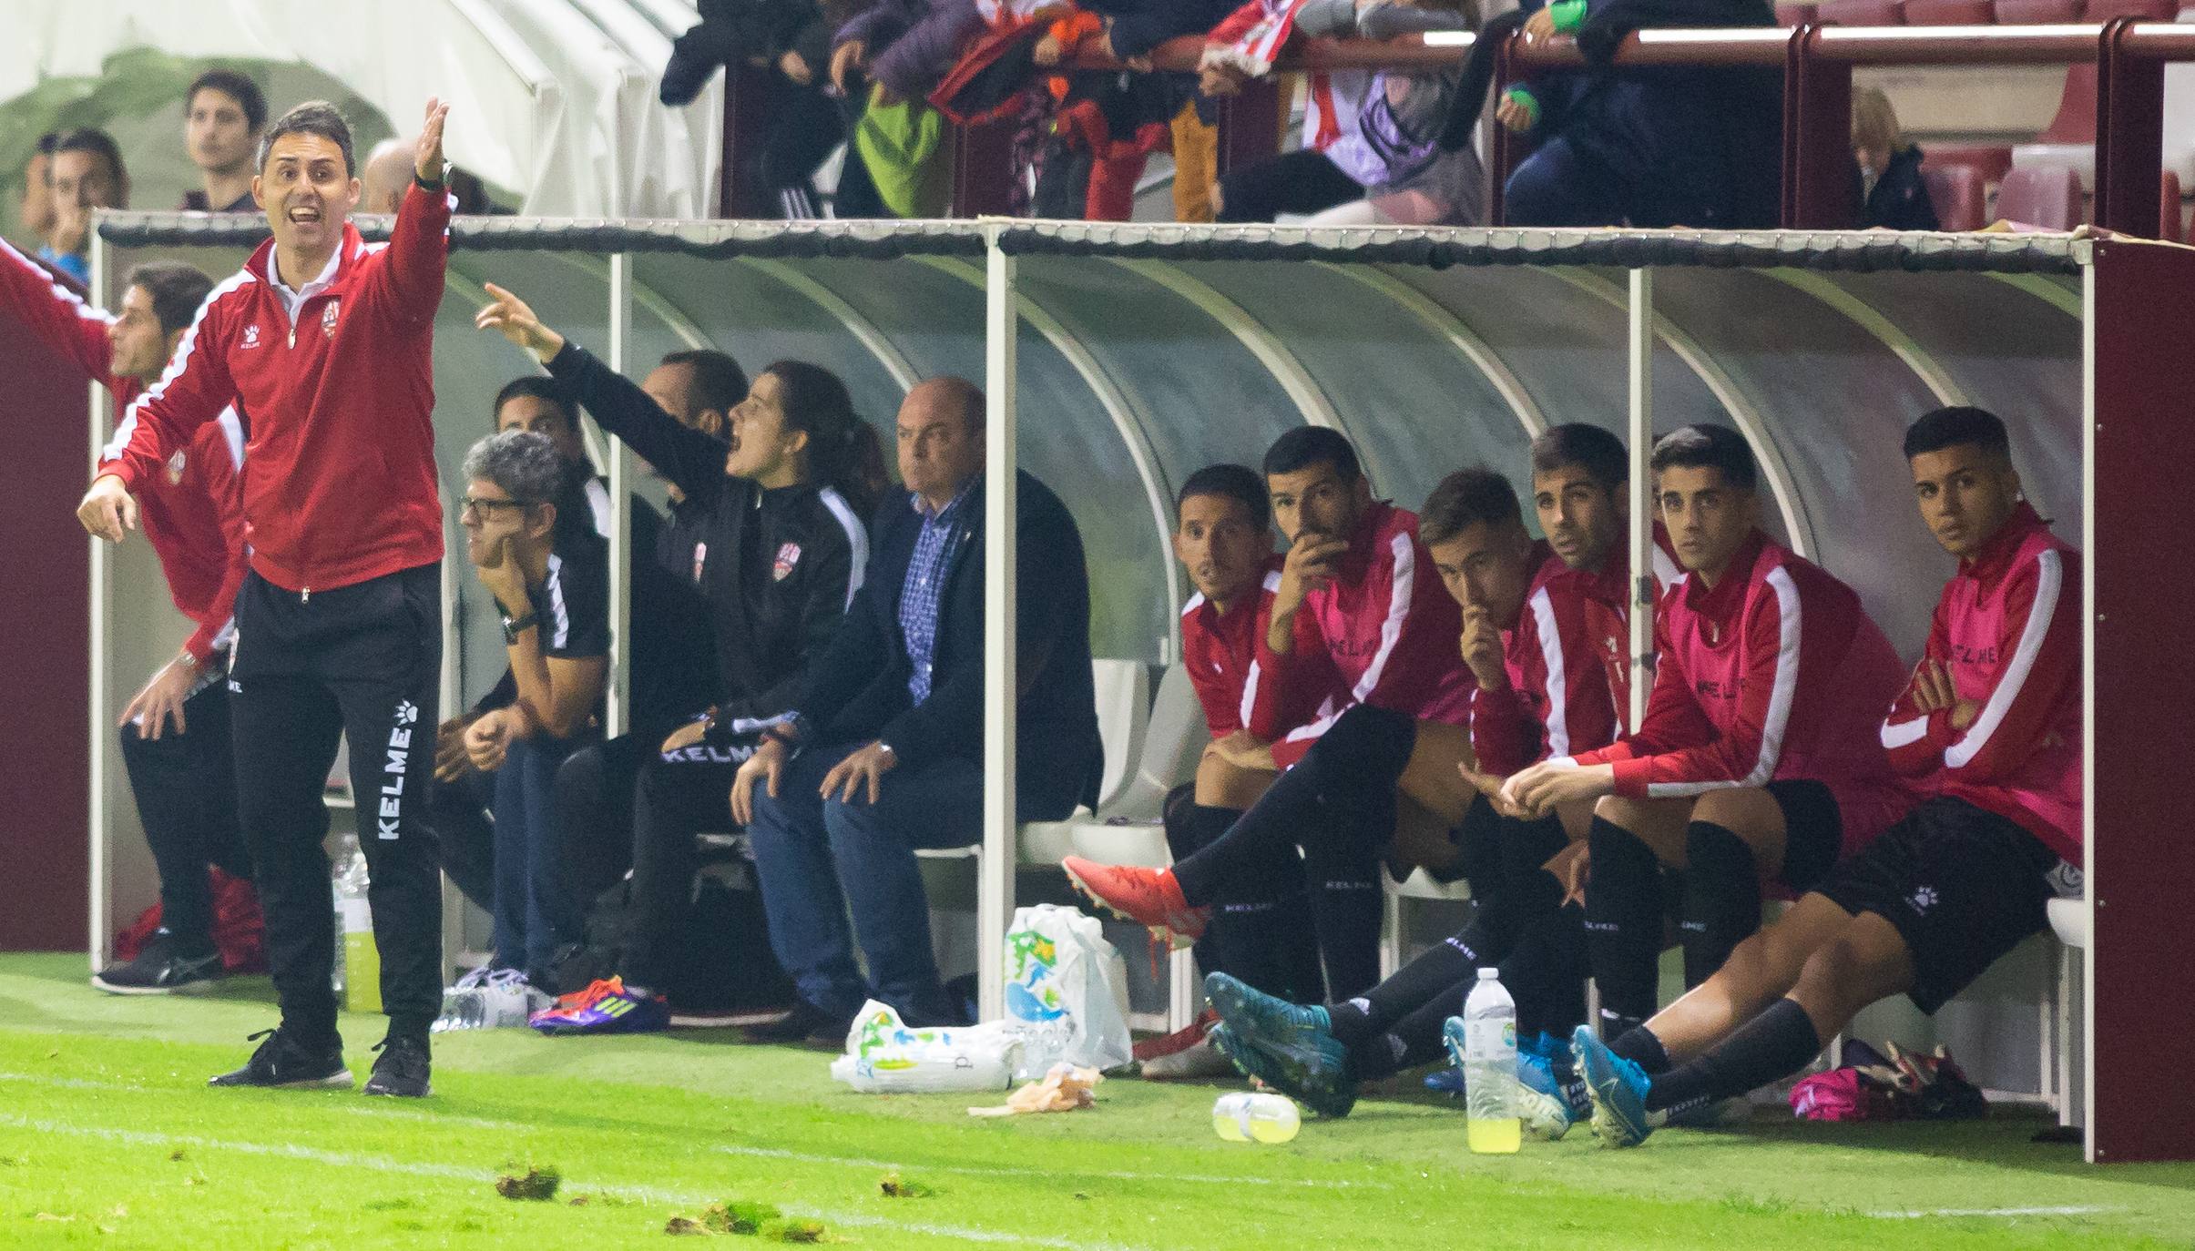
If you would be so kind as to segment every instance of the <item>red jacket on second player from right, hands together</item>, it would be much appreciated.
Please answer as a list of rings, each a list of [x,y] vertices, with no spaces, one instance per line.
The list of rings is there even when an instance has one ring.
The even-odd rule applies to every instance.
[[[1905,667],[1850,586],[1754,531],[1721,586],[1688,573],[1655,623],[1646,722],[1578,764],[1613,764],[1616,794],[1677,799],[1813,779],[1855,852],[1912,808],[1881,720]]]

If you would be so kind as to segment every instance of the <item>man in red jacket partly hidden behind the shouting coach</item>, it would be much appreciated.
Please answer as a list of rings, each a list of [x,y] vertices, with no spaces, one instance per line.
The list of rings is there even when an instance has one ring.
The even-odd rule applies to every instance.
[[[176,353],[213,283],[191,266],[154,261],[123,279],[121,316],[86,305],[0,241],[0,303],[53,351],[75,360],[116,404],[136,399]],[[204,988],[222,974],[206,865],[250,878],[237,825],[228,742],[230,612],[244,582],[244,503],[237,415],[209,421],[145,492],[145,538],[176,608],[193,621],[182,650],[121,715],[123,766],[160,869],[160,931],[138,955],[92,974],[116,994]]]

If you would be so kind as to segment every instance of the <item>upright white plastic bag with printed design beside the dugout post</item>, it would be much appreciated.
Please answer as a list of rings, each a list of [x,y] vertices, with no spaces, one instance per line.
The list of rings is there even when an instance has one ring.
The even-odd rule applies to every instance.
[[[1119,1069],[1130,1060],[1128,968],[1095,917],[1058,904],[1014,909],[1005,926],[1005,1018],[1027,1047],[1018,1080],[1054,1064]]]

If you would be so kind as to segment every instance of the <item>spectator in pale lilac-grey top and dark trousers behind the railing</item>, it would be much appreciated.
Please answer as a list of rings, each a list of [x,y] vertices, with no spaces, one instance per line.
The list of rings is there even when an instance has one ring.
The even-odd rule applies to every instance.
[[[1392,40],[1411,31],[1475,26],[1464,0],[1306,0],[1293,31],[1308,37]],[[1267,4],[1253,2],[1212,31],[1203,90],[1234,94],[1271,70]],[[1486,171],[1468,147],[1442,149],[1460,68],[1420,75],[1319,75],[1304,147],[1220,178],[1220,222],[1271,222],[1282,213],[1313,224],[1473,224],[1486,217]],[[1330,110],[1330,112],[1328,112]]]

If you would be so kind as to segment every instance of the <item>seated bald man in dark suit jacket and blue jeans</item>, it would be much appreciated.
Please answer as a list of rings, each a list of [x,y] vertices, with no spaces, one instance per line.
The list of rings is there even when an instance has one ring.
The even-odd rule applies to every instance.
[[[915,849],[983,834],[983,393],[918,384],[898,446],[907,489],[869,522],[860,590],[731,788],[770,948],[801,994],[753,1032],[764,1042],[843,1047],[867,999],[909,1025],[966,1018],[937,979]],[[1104,768],[1089,573],[1067,505],[1025,472],[1016,483],[1016,819],[1058,821],[1098,797]]]

